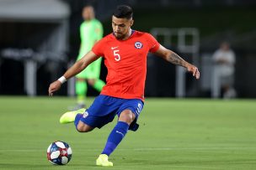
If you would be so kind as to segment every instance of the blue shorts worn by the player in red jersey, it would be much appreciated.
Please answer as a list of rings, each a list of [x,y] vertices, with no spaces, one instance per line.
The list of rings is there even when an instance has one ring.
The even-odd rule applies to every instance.
[[[131,123],[129,129],[136,131],[138,124],[136,121],[143,109],[144,103],[139,99],[120,99],[109,95],[99,95],[93,101],[92,106],[83,114],[83,121],[88,126],[101,128],[113,121],[115,115],[120,116],[122,111],[131,110],[136,119]]]

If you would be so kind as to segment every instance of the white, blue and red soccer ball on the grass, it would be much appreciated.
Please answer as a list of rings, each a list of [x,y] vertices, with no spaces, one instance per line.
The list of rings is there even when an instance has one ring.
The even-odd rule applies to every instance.
[[[71,160],[72,149],[66,142],[52,142],[47,148],[48,161],[55,165],[66,165]]]

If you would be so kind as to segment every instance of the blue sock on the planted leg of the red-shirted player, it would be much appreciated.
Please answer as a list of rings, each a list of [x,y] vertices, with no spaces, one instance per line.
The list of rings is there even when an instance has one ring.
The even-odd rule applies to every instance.
[[[129,125],[126,122],[118,121],[114,129],[109,134],[108,141],[102,154],[110,155],[115,151],[115,147],[122,141],[127,133]]]

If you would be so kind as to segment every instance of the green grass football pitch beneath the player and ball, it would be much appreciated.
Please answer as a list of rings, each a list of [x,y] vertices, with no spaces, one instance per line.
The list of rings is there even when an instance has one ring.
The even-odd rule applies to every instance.
[[[74,102],[0,96],[0,169],[256,169],[256,100],[148,98],[139,130],[129,131],[109,157],[114,167],[96,167],[95,160],[116,119],[78,133],[73,124],[59,124]],[[47,161],[46,149],[57,140],[72,147],[66,166]]]

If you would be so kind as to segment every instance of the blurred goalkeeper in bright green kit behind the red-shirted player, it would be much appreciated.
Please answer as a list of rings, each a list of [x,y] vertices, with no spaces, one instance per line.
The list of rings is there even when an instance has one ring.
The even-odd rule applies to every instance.
[[[95,18],[92,6],[83,8],[83,19],[84,21],[80,26],[81,46],[77,60],[82,59],[93,48],[93,45],[103,37],[103,26]],[[73,110],[85,107],[88,85],[92,85],[99,92],[105,85],[104,81],[99,79],[101,60],[101,57],[95,60],[76,76],[77,106]]]

